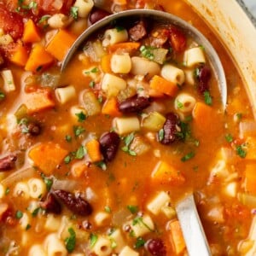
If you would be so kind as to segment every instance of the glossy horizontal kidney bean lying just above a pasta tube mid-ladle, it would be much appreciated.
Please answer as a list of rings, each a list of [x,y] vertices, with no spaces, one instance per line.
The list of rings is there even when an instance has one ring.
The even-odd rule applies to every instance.
[[[119,111],[122,113],[138,113],[150,105],[149,98],[132,96],[119,103]]]

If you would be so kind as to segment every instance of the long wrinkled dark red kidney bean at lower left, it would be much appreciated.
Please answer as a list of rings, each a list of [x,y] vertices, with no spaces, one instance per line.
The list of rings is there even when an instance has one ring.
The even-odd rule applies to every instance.
[[[76,197],[72,193],[61,189],[55,190],[55,195],[74,214],[88,216],[92,212],[90,203],[80,196]]]

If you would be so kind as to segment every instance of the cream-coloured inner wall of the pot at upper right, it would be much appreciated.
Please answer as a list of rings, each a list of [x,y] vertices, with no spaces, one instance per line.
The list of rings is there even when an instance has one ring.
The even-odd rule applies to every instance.
[[[187,0],[206,20],[231,58],[244,81],[256,118],[256,20],[241,0]],[[238,18],[239,17],[239,18]]]

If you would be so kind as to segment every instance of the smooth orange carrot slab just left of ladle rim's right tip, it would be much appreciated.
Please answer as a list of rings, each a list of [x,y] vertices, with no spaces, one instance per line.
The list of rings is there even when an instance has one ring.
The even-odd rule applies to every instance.
[[[214,127],[212,119],[214,120],[214,112],[210,106],[202,102],[196,102],[192,112],[193,123],[196,126],[195,131],[209,132]]]

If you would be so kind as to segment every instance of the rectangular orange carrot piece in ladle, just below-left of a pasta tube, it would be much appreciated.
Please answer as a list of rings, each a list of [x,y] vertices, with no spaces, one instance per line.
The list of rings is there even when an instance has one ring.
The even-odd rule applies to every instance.
[[[176,96],[178,90],[177,84],[173,84],[172,82],[163,79],[158,75],[154,75],[153,79],[150,81],[149,86],[151,89],[168,96]]]

